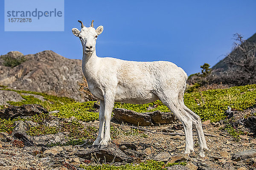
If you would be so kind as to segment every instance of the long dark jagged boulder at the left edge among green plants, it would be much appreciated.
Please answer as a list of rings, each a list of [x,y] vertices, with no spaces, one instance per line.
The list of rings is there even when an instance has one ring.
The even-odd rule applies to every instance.
[[[18,116],[33,116],[35,114],[49,114],[48,111],[41,105],[22,105],[22,106],[12,106],[3,110],[0,110],[0,118],[4,119],[14,119]]]

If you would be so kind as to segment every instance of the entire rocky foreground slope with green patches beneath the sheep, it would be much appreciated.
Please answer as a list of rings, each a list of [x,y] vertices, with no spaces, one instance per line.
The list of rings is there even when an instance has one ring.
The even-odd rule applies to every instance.
[[[55,101],[46,109],[35,104],[39,93],[26,98],[25,92],[9,90],[24,100],[0,109],[0,170],[255,170],[255,89],[246,85],[185,93],[187,107],[204,121],[209,147],[204,158],[198,156],[195,130],[195,152],[183,154],[183,125],[159,100],[115,103],[112,142],[91,148],[99,128],[99,102],[44,95]]]

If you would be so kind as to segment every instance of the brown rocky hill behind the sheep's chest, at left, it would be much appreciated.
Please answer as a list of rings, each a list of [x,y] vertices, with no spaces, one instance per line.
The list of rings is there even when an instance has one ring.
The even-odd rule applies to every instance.
[[[92,99],[80,59],[67,59],[53,51],[23,55],[11,51],[0,56],[0,85],[16,90],[67,96],[83,102]]]

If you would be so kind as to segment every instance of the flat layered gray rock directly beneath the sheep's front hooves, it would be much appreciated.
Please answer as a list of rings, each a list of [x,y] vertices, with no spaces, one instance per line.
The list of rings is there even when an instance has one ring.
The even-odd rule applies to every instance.
[[[128,157],[121,150],[116,147],[115,144],[108,144],[108,147],[105,148],[87,148],[75,153],[75,156],[78,156],[83,159],[90,160],[92,156],[96,156],[97,159],[106,162],[131,162],[133,159]]]

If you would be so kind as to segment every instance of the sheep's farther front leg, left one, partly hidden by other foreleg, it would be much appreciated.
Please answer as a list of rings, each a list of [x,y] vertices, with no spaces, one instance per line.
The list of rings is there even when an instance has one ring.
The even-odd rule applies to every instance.
[[[104,109],[105,109],[105,103],[104,103],[104,100],[101,100],[100,107],[99,107],[99,134],[97,139],[93,142],[92,147],[97,147],[99,145],[99,142],[104,137],[104,123],[105,123]]]

